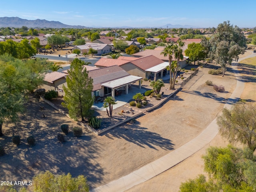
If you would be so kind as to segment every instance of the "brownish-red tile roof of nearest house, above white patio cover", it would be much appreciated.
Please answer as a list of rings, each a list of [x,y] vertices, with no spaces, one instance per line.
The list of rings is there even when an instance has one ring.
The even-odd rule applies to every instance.
[[[88,72],[90,78],[93,79],[93,90],[101,89],[103,83],[110,82],[119,78],[130,76],[128,72],[123,70],[120,66],[114,65],[104,68],[98,68]]]

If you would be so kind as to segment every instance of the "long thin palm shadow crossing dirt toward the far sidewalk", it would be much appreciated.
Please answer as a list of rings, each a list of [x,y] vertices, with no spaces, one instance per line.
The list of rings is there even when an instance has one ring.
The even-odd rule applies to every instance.
[[[240,99],[240,98],[234,98],[234,99],[224,98],[224,97],[218,96],[217,94],[209,93],[209,92],[189,91],[189,90],[181,90],[181,92],[213,99],[213,100],[216,100],[217,102],[223,103],[223,104],[235,104]]]

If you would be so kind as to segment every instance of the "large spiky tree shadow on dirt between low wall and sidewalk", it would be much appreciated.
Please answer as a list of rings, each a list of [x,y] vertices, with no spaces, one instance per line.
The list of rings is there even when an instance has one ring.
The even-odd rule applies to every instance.
[[[141,127],[138,124],[126,124],[120,126],[118,129],[108,131],[106,134],[108,138],[124,139],[132,142],[142,148],[152,148],[157,150],[160,147],[164,150],[173,150],[174,144],[170,139],[164,138],[162,135],[148,131],[148,128]]]

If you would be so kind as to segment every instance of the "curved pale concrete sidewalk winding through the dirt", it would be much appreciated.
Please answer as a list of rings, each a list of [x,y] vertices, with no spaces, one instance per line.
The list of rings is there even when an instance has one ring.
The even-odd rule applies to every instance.
[[[242,58],[241,60],[243,60]],[[240,60],[239,60],[240,61]],[[234,66],[236,68],[236,66]],[[237,84],[234,92],[224,105],[225,108],[230,108],[235,101],[237,101],[243,90],[244,90],[244,82],[239,80],[240,74],[236,73]],[[229,102],[232,101],[232,102]],[[118,180],[114,180],[108,184],[103,186],[99,186],[90,190],[90,192],[123,192],[132,188],[135,185],[138,185],[142,182],[145,182],[154,176],[172,168],[176,164],[182,162],[192,154],[196,153],[198,150],[203,148],[206,144],[208,144],[216,135],[218,134],[218,125],[216,124],[216,118],[208,125],[208,127],[201,132],[196,138],[187,142],[183,146],[178,149],[166,154],[165,156],[143,166],[142,168],[119,178]]]

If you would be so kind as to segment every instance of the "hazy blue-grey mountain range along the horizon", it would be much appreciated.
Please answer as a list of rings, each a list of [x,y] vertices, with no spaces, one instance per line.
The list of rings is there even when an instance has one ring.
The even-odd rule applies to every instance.
[[[14,27],[21,28],[26,26],[28,28],[108,28],[106,26],[80,26],[80,25],[66,25],[59,21],[48,20],[27,20],[19,17],[0,17],[0,27]],[[166,24],[163,26],[144,26],[144,27],[131,27],[131,26],[112,26],[110,28],[198,28],[190,25],[172,25]]]

